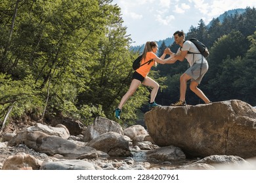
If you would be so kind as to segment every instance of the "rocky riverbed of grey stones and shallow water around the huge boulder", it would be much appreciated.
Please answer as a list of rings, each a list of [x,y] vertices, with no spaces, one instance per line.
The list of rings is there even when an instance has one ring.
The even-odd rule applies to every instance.
[[[102,117],[88,127],[73,120],[55,123],[27,120],[7,125],[0,137],[0,169],[256,169],[253,158],[224,154],[191,158],[182,144],[158,146],[142,125],[122,129]]]

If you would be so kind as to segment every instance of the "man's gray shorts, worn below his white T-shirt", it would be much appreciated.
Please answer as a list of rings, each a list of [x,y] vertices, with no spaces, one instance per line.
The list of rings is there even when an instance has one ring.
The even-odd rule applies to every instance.
[[[201,75],[200,75],[200,67],[201,67],[201,63],[195,63],[194,65],[192,65],[192,67],[188,68],[188,70],[186,70],[185,72],[185,74],[192,77],[191,81],[196,81],[198,84],[200,84],[203,76],[208,71],[208,63],[202,64]]]

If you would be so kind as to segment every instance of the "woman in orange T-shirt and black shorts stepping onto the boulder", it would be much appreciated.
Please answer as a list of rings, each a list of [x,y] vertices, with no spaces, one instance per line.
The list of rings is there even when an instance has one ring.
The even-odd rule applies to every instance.
[[[128,92],[125,93],[125,95],[123,95],[118,107],[116,108],[115,116],[117,119],[120,119],[120,113],[123,105],[125,104],[127,99],[129,99],[129,97],[131,97],[131,95],[133,95],[133,93],[136,92],[140,84],[143,84],[145,86],[150,86],[153,88],[150,95],[149,108],[151,109],[153,107],[160,106],[155,102],[156,94],[158,93],[159,84],[156,81],[152,80],[152,78],[148,77],[148,73],[153,65],[156,66],[157,63],[164,64],[165,61],[168,61],[171,58],[164,59],[166,54],[163,54],[161,58],[158,58],[158,56],[156,56],[156,52],[158,52],[158,44],[156,44],[156,42],[154,41],[146,42],[144,51],[142,53],[142,61],[140,65],[142,65],[146,61],[149,61],[150,59],[153,59],[153,60],[150,63],[142,65],[141,67],[139,67],[139,69],[137,69],[133,73],[133,76],[132,76],[133,80],[131,81],[131,86]]]

